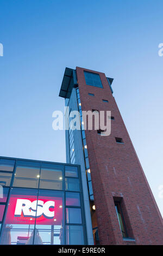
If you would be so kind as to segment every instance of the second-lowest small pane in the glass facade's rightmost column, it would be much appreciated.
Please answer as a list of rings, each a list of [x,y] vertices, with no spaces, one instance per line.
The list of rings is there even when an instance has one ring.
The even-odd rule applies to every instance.
[[[66,208],[66,223],[82,224],[81,209]]]

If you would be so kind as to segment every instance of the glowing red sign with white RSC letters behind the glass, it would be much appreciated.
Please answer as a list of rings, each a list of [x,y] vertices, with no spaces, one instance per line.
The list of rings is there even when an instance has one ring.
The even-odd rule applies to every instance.
[[[62,198],[60,197],[35,197],[20,198],[12,195],[10,198],[7,218],[8,224],[48,224],[61,225],[62,223]]]

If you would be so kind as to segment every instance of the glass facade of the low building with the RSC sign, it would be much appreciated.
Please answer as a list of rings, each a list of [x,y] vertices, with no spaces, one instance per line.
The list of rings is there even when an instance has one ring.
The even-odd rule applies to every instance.
[[[78,165],[0,158],[0,244],[86,245]]]

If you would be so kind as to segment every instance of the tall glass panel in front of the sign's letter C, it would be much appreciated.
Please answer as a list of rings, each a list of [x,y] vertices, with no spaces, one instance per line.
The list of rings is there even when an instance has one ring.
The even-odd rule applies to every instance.
[[[42,209],[41,204],[44,211],[43,215],[36,219],[37,231],[34,244],[62,245],[64,243],[62,233],[64,192],[39,190],[39,200],[39,211]]]

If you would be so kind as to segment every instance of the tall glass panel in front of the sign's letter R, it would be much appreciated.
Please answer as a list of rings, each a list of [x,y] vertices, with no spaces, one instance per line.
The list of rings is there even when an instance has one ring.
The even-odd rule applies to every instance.
[[[1,245],[31,245],[34,237],[37,190],[12,188]]]

